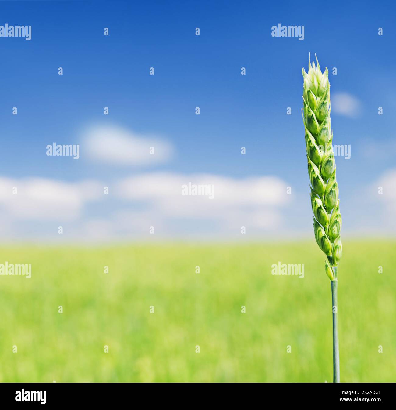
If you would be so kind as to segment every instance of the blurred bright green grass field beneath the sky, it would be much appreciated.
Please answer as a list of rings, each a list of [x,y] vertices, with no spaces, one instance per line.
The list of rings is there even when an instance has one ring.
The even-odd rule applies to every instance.
[[[394,382],[396,243],[343,245],[341,381]],[[332,380],[331,288],[314,241],[3,246],[6,261],[31,263],[32,278],[0,276],[2,382]],[[271,275],[278,261],[305,264],[305,277]]]

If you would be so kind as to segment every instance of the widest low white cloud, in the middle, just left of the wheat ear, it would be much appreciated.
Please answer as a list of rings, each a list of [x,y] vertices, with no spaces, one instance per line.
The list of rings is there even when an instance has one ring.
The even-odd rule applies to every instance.
[[[214,198],[183,196],[182,185],[213,185]],[[276,177],[234,179],[218,175],[149,173],[119,182],[116,194],[143,201],[153,215],[173,219],[213,220],[223,226],[251,224],[270,228],[281,221],[280,207],[286,205],[286,183]]]

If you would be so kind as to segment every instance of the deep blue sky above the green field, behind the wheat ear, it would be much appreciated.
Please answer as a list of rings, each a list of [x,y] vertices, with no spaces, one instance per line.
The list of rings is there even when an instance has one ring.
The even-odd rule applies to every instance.
[[[139,237],[148,231],[147,224],[157,223],[165,237],[213,238],[230,232],[240,237],[246,219],[247,231],[263,237],[307,234],[311,219],[301,68],[307,69],[308,52],[317,53],[322,68],[337,68],[329,78],[333,143],[351,146],[350,159],[336,157],[345,232],[394,232],[389,220],[396,216],[395,8],[392,2],[315,7],[299,2],[1,2],[0,25],[32,26],[30,41],[0,38],[3,189],[20,184],[27,191],[32,178],[41,178],[49,184],[44,191],[56,181],[65,190],[71,187],[69,197],[85,191],[84,181],[91,181],[86,191],[92,190],[89,198],[71,201],[72,212],[55,201],[47,216],[4,200],[3,233],[48,239],[66,224],[65,233],[75,237],[90,230],[90,237],[101,231],[109,238]],[[303,25],[304,40],[272,37],[271,27],[278,23]],[[155,75],[149,75],[150,67]],[[109,107],[108,116],[103,107]],[[195,107],[200,107],[199,116]],[[114,130],[116,140],[121,132],[124,142],[129,135],[131,144],[155,141],[169,152],[162,160],[141,163],[95,157],[87,130],[94,141],[92,129],[100,133],[102,128]],[[80,158],[48,157],[46,146],[53,142],[79,144]],[[242,146],[246,155],[241,155]],[[249,191],[243,203],[230,200],[232,209],[230,201],[212,214],[204,208],[205,218],[201,205],[196,213],[173,214],[167,194],[128,195],[120,188],[127,181],[136,186],[148,181],[155,189],[156,178],[163,175],[169,178],[164,185],[177,185],[202,174],[208,183],[227,181],[235,197],[240,197],[235,190],[243,187],[241,181],[252,183],[254,192],[260,178],[292,187],[292,195],[278,202],[264,198],[252,209]],[[110,195],[103,198],[94,187],[103,191],[105,185]],[[378,195],[380,185],[387,187],[383,196]],[[32,207],[40,208],[41,200]],[[219,222],[223,207],[229,216]],[[256,226],[254,218],[245,218],[249,215],[263,223]],[[142,221],[142,226],[135,223],[121,232],[119,226],[128,220]]]

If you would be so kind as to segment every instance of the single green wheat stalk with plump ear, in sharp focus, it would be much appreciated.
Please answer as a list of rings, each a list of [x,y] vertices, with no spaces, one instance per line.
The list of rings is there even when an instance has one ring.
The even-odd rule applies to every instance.
[[[316,54],[315,54],[316,57]],[[330,83],[327,67],[322,73],[316,57],[308,62],[304,77],[304,109],[306,155],[311,185],[311,205],[314,214],[313,229],[320,249],[326,254],[325,272],[331,280],[333,302],[333,380],[340,381],[340,355],[337,323],[337,266],[342,256],[340,230],[342,219],[338,184],[335,178],[333,131],[331,130]]]

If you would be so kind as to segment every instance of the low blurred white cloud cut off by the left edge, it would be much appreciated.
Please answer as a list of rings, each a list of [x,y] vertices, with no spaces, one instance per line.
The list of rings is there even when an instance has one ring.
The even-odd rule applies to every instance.
[[[13,194],[16,189],[16,194]],[[61,182],[46,178],[0,178],[0,205],[15,219],[70,220],[88,200],[103,194],[95,181]]]

